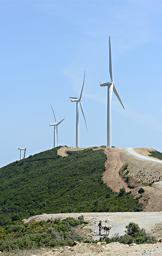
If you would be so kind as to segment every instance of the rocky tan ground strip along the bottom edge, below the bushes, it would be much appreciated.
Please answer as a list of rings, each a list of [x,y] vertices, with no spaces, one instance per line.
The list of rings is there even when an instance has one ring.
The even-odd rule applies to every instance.
[[[126,245],[120,243],[78,244],[74,247],[59,249],[38,249],[18,253],[0,254],[1,256],[162,256],[162,243]]]

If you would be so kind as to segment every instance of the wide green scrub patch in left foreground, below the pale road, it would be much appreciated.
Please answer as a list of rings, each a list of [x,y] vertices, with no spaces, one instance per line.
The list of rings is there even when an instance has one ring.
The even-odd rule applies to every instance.
[[[84,241],[75,229],[82,223],[87,223],[83,216],[77,220],[67,218],[62,221],[49,220],[31,224],[21,221],[11,222],[0,227],[0,251],[66,246],[71,245],[74,240]]]

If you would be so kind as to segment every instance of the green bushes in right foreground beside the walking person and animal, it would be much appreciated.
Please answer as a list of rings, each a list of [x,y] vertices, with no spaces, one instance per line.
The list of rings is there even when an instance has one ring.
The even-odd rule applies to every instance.
[[[112,238],[105,237],[105,241],[107,243],[112,242],[119,242],[119,243],[156,243],[157,240],[154,236],[149,235],[146,233],[145,229],[140,229],[139,225],[134,222],[130,222],[126,227],[127,230],[125,230],[124,236],[119,236],[118,234],[115,234]]]

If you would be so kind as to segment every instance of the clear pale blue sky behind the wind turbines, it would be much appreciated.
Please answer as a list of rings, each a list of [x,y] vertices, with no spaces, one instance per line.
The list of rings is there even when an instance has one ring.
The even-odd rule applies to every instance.
[[[162,1],[0,0],[0,167],[58,145],[106,145],[107,88],[113,77],[112,145],[162,152]]]

